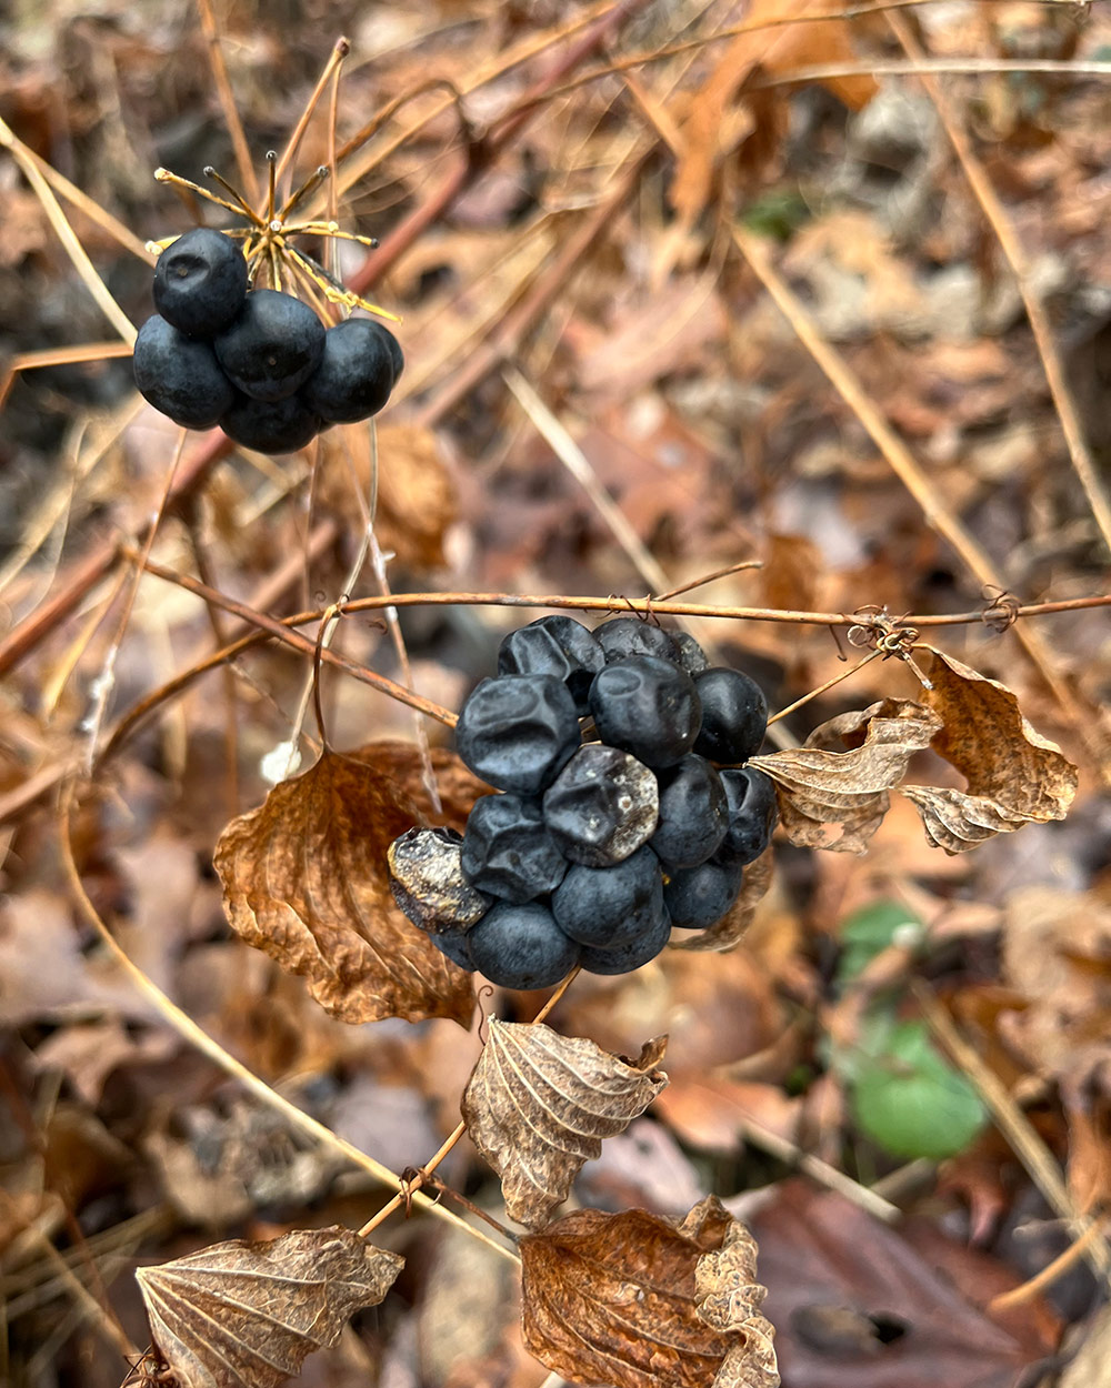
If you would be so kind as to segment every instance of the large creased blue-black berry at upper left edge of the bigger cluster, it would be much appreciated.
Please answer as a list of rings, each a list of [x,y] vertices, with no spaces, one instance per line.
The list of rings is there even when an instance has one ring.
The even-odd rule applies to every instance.
[[[456,747],[471,770],[497,790],[536,795],[579,745],[575,701],[551,675],[483,680],[460,712]]]

